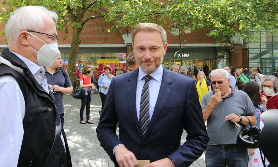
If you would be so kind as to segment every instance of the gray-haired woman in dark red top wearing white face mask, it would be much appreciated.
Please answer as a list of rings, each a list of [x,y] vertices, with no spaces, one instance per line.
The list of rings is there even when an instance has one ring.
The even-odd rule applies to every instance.
[[[262,97],[267,98],[267,109],[278,109],[278,79],[275,76],[266,76],[262,82]]]

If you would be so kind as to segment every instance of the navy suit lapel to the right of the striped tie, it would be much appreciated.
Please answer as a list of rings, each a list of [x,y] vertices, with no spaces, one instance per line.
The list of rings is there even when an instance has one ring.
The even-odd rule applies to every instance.
[[[152,114],[151,117],[151,122],[148,126],[148,129],[146,131],[145,134],[145,138],[147,138],[148,134],[150,133],[152,127],[154,126],[157,118],[159,117],[159,114],[162,110],[162,108],[165,105],[165,102],[167,101],[167,98],[172,90],[172,86],[170,85],[170,83],[172,83],[172,78],[171,78],[171,74],[170,71],[167,70],[164,66],[163,66],[163,76],[162,76],[162,80],[161,80],[161,86],[159,89],[159,94],[158,94],[158,98],[155,104],[155,109],[154,112]],[[144,139],[143,139],[144,140]]]

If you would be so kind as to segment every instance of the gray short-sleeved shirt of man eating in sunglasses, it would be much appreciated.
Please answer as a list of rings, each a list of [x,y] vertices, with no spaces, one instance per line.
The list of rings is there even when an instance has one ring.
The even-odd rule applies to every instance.
[[[255,109],[249,96],[240,90],[231,88],[231,96],[222,99],[213,109],[207,120],[207,130],[209,135],[209,145],[236,144],[237,136],[245,126],[238,123],[241,127],[237,129],[231,121],[225,121],[225,117],[234,113],[236,115],[255,115]],[[207,106],[211,96],[215,91],[204,95],[201,107],[202,110]]]

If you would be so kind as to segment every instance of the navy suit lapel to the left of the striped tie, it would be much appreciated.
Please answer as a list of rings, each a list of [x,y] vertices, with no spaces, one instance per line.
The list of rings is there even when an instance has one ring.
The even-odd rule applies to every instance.
[[[140,134],[140,136],[142,138],[142,133],[140,130],[139,121],[137,118],[137,110],[136,110],[136,87],[137,87],[138,71],[139,71],[139,68],[134,70],[134,72],[132,72],[132,74],[128,78],[129,82],[127,83],[127,99],[128,99],[128,104],[130,107],[130,112],[131,112],[134,124],[136,126],[138,133]]]

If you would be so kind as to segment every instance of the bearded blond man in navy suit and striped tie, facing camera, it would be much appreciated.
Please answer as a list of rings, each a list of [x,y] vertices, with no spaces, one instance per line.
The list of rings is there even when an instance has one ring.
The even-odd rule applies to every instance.
[[[209,141],[195,82],[161,65],[168,45],[162,27],[137,24],[131,38],[139,68],[111,81],[98,140],[116,166],[144,159],[152,162],[144,167],[190,166]],[[187,141],[180,145],[183,129]]]

